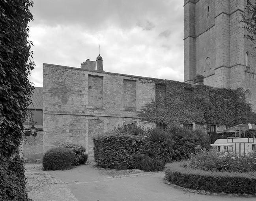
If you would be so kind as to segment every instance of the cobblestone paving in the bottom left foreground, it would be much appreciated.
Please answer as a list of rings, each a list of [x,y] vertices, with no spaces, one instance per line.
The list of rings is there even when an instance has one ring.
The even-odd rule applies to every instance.
[[[66,183],[51,177],[42,170],[41,164],[26,164],[25,175],[28,179],[26,190],[34,201],[78,201]]]

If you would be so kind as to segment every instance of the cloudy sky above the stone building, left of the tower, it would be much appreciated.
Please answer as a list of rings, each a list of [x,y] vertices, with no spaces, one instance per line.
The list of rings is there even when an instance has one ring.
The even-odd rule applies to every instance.
[[[34,86],[43,86],[43,63],[80,68],[99,44],[107,72],[183,81],[183,1],[33,2]]]

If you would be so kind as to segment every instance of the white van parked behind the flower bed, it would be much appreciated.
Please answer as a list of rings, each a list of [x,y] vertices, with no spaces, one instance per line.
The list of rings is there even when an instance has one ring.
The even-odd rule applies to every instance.
[[[256,140],[253,137],[236,137],[217,139],[211,147],[216,152],[233,152],[239,155],[256,151]]]

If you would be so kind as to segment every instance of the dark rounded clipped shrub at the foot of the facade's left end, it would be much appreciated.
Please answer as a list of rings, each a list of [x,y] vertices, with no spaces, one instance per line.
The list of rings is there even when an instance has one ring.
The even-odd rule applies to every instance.
[[[44,170],[65,170],[75,165],[75,153],[64,147],[54,147],[43,156]]]

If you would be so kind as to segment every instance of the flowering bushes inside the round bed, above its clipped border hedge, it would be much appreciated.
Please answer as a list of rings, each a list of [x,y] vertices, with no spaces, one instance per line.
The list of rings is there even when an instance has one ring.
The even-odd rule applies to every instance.
[[[256,171],[256,152],[238,157],[231,152],[224,154],[202,150],[195,155],[191,155],[189,166],[205,171],[254,172]]]

